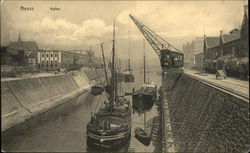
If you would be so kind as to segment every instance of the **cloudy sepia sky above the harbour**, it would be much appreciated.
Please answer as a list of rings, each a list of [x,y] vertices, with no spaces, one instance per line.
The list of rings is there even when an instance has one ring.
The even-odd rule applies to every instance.
[[[36,41],[40,49],[91,49],[101,55],[104,43],[111,51],[113,23],[116,22],[116,49],[120,58],[142,63],[143,36],[129,18],[138,20],[182,50],[196,37],[218,36],[241,26],[247,1],[1,1],[1,44]],[[33,7],[22,11],[20,7]],[[52,11],[50,8],[60,8]],[[130,43],[129,43],[130,30]],[[130,44],[130,51],[129,51]],[[158,61],[145,44],[147,61]]]

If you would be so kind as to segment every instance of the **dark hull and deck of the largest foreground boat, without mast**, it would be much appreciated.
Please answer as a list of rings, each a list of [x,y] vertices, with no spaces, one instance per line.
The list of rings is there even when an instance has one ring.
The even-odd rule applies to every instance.
[[[120,148],[131,136],[131,106],[119,97],[110,110],[106,104],[87,125],[87,145],[105,149]]]

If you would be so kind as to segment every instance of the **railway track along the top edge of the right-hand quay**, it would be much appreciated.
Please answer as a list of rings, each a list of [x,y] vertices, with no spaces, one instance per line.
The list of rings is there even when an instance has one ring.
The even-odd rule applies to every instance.
[[[219,90],[225,91],[225,92],[227,92],[227,93],[229,93],[229,94],[231,94],[231,95],[235,95],[236,97],[239,97],[239,98],[243,99],[244,101],[249,102],[249,95],[247,95],[247,94],[244,94],[244,93],[242,93],[242,92],[233,90],[233,89],[231,89],[231,88],[228,88],[228,87],[219,85],[218,83],[213,83],[213,82],[208,81],[208,80],[206,80],[206,79],[202,79],[202,78],[200,78],[200,77],[193,76],[193,75],[188,74],[188,73],[185,73],[185,75],[187,75],[187,76],[189,76],[189,77],[191,77],[191,78],[193,78],[193,79],[195,79],[195,80],[197,80],[197,81],[200,81],[200,82],[202,82],[202,83],[205,83],[205,84],[207,84],[207,85],[213,86],[213,87],[215,87],[215,88],[217,88],[217,89],[219,89]]]

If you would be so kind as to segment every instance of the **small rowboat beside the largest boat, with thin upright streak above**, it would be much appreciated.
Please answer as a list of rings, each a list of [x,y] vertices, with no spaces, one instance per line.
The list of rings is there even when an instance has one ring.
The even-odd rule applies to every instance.
[[[146,112],[144,112],[144,130],[142,128],[135,128],[135,137],[144,145],[149,146],[150,144],[150,135],[146,132],[147,120]]]

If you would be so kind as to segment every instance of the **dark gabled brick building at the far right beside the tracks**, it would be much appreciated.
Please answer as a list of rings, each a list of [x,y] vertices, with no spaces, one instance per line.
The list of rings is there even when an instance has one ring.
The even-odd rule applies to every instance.
[[[215,72],[225,69],[229,75],[249,75],[248,7],[244,6],[241,29],[233,29],[219,37],[204,39],[204,69]]]

